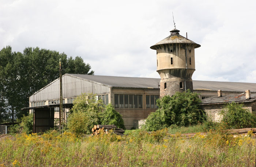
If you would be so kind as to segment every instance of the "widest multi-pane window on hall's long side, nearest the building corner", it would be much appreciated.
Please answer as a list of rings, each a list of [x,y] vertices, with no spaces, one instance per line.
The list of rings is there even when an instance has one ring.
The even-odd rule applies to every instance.
[[[142,109],[142,95],[114,95],[115,108]]]

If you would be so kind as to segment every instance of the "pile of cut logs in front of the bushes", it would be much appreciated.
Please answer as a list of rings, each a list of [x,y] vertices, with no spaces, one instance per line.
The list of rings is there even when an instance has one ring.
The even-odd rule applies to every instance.
[[[117,135],[124,135],[124,129],[119,129],[115,125],[94,125],[91,129],[91,132],[93,132],[91,136],[98,135],[99,133],[108,134],[110,130]]]

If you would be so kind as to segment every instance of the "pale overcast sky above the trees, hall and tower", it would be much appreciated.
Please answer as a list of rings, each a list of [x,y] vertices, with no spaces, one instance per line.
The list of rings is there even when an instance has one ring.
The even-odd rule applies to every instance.
[[[193,80],[256,83],[256,1],[0,0],[0,48],[81,56],[95,75],[156,77],[173,27],[201,45]]]

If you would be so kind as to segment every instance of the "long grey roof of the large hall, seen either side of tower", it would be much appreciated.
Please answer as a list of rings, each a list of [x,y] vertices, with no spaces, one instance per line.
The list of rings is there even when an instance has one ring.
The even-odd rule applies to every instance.
[[[159,88],[159,78],[142,78],[142,77],[120,77],[120,76],[101,76],[101,75],[82,75],[66,74],[106,84],[112,87],[130,87],[130,88]],[[256,92],[256,83],[241,82],[220,82],[220,81],[197,81],[193,80],[194,90],[211,90],[211,91],[238,91],[245,92],[251,90]]]

